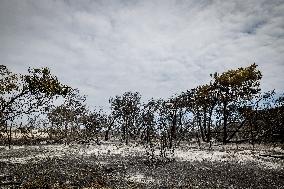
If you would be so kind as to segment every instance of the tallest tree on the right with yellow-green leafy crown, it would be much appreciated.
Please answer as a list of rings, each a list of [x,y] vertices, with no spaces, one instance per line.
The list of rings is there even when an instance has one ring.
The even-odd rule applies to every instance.
[[[254,63],[246,68],[229,70],[213,75],[213,86],[218,94],[218,107],[223,119],[223,143],[228,141],[228,121],[233,106],[238,106],[252,100],[260,92],[259,81],[261,72]]]

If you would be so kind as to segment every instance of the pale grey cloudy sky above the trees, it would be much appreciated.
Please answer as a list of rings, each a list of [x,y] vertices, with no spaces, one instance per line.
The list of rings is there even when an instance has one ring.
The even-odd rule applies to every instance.
[[[49,67],[95,107],[139,91],[169,97],[255,62],[284,92],[283,0],[0,0],[0,60]]]

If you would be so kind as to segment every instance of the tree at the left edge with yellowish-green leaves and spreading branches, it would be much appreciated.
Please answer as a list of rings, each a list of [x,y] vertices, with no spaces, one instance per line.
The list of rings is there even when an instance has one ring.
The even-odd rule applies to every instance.
[[[0,65],[0,129],[11,144],[11,127],[15,119],[43,112],[54,97],[65,96],[69,87],[61,84],[48,68],[29,69],[27,75],[12,73]]]

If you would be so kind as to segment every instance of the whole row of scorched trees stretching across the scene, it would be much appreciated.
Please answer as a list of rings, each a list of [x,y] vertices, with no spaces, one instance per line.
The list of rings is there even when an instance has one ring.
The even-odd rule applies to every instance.
[[[92,110],[86,97],[58,81],[48,68],[12,73],[0,65],[0,137],[26,141],[36,128],[53,142],[119,138],[172,149],[185,141],[284,142],[284,95],[261,93],[256,64],[211,74],[211,81],[168,99],[141,101],[138,92],[111,97],[110,113]],[[161,152],[162,153],[162,152]]]

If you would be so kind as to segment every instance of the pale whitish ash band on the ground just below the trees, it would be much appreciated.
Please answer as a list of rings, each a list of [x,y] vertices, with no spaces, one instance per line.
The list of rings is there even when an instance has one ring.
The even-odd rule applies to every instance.
[[[174,153],[167,151],[167,157],[175,158],[177,161],[234,161],[238,163],[254,162],[264,168],[278,169],[283,166],[283,161],[271,159],[270,157],[261,157],[259,154],[265,154],[267,152],[279,152],[282,153],[281,148],[267,148],[265,146],[256,146],[254,150],[251,146],[240,145],[238,149],[233,145],[226,146],[214,146],[212,150],[198,149],[194,147],[190,148],[177,148]],[[72,156],[112,156],[120,155],[122,157],[127,156],[142,156],[150,155],[152,152],[143,146],[130,144],[126,146],[115,142],[103,142],[98,145],[96,143],[91,144],[70,144],[70,145],[37,145],[37,146],[12,146],[12,149],[6,149],[2,147],[0,161],[12,162],[12,163],[26,163],[27,161],[38,161],[46,157],[61,157],[64,155]],[[31,153],[23,153],[24,157],[9,157],[4,158],[5,155],[9,155],[10,152],[21,153],[22,151]],[[160,149],[156,148],[153,151],[155,156],[159,156]]]

